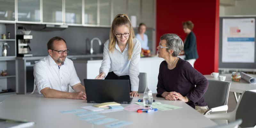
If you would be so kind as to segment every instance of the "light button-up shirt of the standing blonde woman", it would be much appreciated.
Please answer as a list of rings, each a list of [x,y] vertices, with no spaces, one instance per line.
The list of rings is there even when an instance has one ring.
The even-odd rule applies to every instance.
[[[104,44],[103,49],[103,61],[100,66],[100,73],[104,72],[108,75],[108,72],[114,72],[117,76],[129,75],[131,81],[131,91],[138,91],[139,89],[139,62],[141,45],[140,41],[136,38],[133,39],[133,52],[132,59],[129,59],[128,45],[126,45],[123,53],[118,47],[117,43],[114,48],[114,52],[110,52],[108,49],[109,40]]]

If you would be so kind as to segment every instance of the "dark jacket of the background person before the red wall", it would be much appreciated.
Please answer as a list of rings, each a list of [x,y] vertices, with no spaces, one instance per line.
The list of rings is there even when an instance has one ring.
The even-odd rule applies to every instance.
[[[186,38],[186,41],[184,44],[184,52],[185,52],[184,60],[198,58],[197,49],[196,49],[196,36],[192,31],[188,34]]]

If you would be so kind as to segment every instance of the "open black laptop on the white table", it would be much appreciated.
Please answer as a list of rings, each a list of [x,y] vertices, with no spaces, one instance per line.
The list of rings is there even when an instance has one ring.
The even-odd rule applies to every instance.
[[[130,104],[129,80],[84,79],[87,103],[117,102]]]

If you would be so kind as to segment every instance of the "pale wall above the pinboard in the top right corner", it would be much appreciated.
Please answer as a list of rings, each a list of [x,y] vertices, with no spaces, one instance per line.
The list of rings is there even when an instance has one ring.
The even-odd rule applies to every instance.
[[[220,16],[256,15],[256,0],[236,0],[235,6],[220,6]]]

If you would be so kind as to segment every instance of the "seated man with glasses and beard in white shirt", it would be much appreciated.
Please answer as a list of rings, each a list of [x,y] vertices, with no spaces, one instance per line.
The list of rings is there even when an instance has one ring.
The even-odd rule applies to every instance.
[[[81,84],[73,61],[66,58],[69,50],[66,41],[53,37],[47,43],[49,55],[34,66],[34,91],[46,98],[67,98],[86,100],[85,88]],[[76,92],[68,92],[70,85]]]

